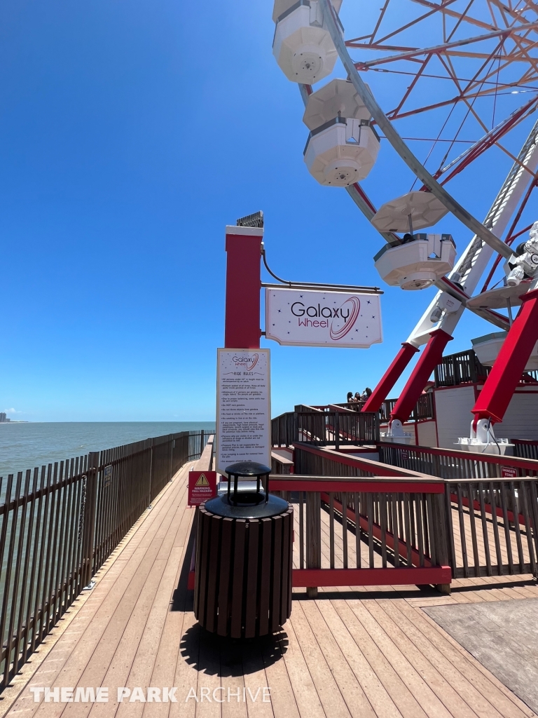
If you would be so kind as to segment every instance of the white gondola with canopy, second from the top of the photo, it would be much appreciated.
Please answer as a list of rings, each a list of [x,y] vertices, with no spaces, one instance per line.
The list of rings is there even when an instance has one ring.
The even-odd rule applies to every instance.
[[[347,80],[331,80],[310,95],[303,116],[311,131],[304,161],[320,185],[345,187],[367,177],[379,151],[379,138],[369,118]]]

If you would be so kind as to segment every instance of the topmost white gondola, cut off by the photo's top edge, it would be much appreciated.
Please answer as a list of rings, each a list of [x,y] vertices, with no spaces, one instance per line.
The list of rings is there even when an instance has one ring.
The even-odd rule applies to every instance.
[[[336,12],[341,2],[333,1]],[[338,53],[318,0],[275,0],[273,20],[273,55],[288,80],[312,85],[331,74]]]

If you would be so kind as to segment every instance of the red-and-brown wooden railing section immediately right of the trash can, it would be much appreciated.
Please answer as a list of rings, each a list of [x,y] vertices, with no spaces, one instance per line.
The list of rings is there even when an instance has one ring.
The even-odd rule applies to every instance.
[[[336,453],[336,452],[331,452]],[[356,457],[343,457],[345,461],[362,462]],[[372,462],[367,462],[370,465]],[[445,485],[442,480],[417,478],[406,475],[375,477],[357,480],[324,476],[271,476],[269,489],[286,495],[298,492],[301,497],[299,512],[300,568],[293,570],[295,587],[328,587],[354,585],[410,585],[450,584],[448,566],[448,538],[443,529],[445,522]],[[303,496],[306,495],[306,500]],[[306,503],[306,521],[303,517]],[[413,520],[428,505],[429,518],[415,531]],[[331,567],[321,568],[321,524],[319,511],[329,511],[329,544]],[[359,508],[359,510],[357,510]],[[334,566],[334,510],[340,518],[344,567]],[[398,518],[398,516],[400,518]],[[304,525],[306,523],[306,531]],[[347,531],[353,530],[358,551],[357,567],[347,561]],[[358,532],[358,541],[357,541]],[[361,566],[361,541],[368,544],[368,567]],[[317,545],[319,542],[319,545]],[[373,547],[382,555],[382,567],[373,567]],[[306,562],[304,561],[306,556]],[[392,556],[392,558],[391,558]],[[387,563],[387,559],[390,559]],[[392,566],[389,563],[392,562]],[[305,567],[306,563],[306,567]],[[316,565],[313,565],[316,564]],[[402,566],[402,564],[405,564]]]

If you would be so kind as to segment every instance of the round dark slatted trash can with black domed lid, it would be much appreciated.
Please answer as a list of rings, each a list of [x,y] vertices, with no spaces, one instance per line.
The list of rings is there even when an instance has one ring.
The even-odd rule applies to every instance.
[[[254,638],[291,615],[293,508],[268,492],[267,466],[226,473],[226,493],[199,508],[194,616],[212,633]]]

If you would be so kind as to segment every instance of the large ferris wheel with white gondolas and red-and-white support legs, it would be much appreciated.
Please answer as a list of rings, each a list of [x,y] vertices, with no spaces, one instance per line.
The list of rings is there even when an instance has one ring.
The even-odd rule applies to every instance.
[[[438,287],[364,411],[379,409],[426,345],[392,411],[389,434],[402,437],[402,424],[469,309],[511,337],[499,335],[501,358],[482,405],[473,409],[469,437],[469,448],[478,447],[471,450],[491,438],[499,446],[491,425],[502,420],[513,393],[506,387],[521,376],[538,339],[531,328],[538,326],[538,230],[525,211],[538,183],[538,5],[384,0],[379,8],[364,1],[349,9],[357,24],[351,32],[341,23],[341,5],[275,0],[273,9],[273,54],[305,104],[306,167],[321,185],[345,187],[384,238],[374,258],[384,281],[404,290]],[[338,59],[342,77],[327,80],[338,72]],[[399,197],[374,204],[360,183],[376,172],[380,139],[390,143],[402,182],[412,182]],[[469,201],[474,187],[495,187],[482,221]],[[450,235],[417,232],[448,212],[471,233],[457,261]],[[492,279],[503,286],[489,289]],[[520,304],[513,324],[511,308]]]

